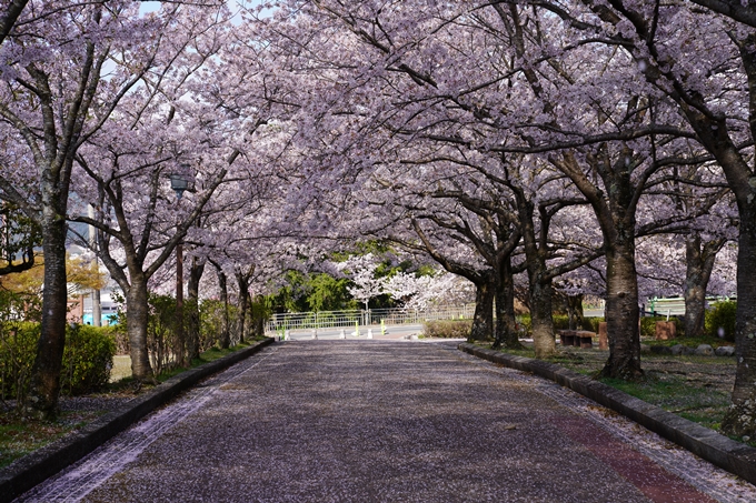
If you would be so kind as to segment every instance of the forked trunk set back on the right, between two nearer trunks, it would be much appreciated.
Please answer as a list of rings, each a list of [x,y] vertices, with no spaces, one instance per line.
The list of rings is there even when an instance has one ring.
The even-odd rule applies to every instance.
[[[685,335],[697,338],[704,334],[704,315],[706,313],[706,289],[717,252],[725,244],[724,239],[704,243],[700,234],[694,233],[685,240]]]

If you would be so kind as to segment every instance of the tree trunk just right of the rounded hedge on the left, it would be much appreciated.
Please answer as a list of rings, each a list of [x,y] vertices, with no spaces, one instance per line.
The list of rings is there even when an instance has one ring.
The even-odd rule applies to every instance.
[[[155,382],[147,351],[149,303],[147,281],[143,278],[131,278],[131,286],[126,292],[126,331],[129,336],[133,379],[139,382]]]

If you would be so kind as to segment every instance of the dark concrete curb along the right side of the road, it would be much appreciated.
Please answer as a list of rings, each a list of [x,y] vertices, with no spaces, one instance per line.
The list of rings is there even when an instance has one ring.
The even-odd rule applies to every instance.
[[[709,463],[756,484],[754,447],[554,363],[505,354],[468,343],[461,343],[457,348],[483,360],[555,381],[658,433]]]

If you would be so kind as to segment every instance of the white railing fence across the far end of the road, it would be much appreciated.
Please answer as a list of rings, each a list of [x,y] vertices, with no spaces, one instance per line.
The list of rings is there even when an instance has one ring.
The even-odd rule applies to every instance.
[[[273,314],[266,324],[266,332],[278,330],[302,329],[338,329],[355,325],[386,325],[418,324],[431,320],[464,320],[471,319],[475,304],[462,306],[438,306],[425,310],[404,308],[371,309],[359,311],[321,311],[309,313]]]

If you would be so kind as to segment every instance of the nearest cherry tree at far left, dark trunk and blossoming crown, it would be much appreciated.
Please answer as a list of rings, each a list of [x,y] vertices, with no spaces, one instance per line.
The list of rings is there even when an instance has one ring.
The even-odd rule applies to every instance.
[[[2,198],[39,222],[44,239],[42,335],[28,412],[53,416],[66,324],[66,214],[74,157],[156,62],[171,16],[140,17],[138,4],[13,2],[16,23],[0,48],[0,117],[6,141]],[[20,10],[20,14],[18,14]],[[11,163],[8,164],[8,161]]]

